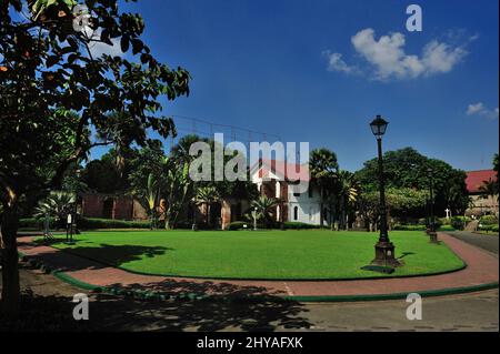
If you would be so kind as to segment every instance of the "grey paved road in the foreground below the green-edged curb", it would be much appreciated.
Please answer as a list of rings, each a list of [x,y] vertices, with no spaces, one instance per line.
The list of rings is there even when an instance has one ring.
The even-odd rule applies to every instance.
[[[1,272],[0,272],[1,273]],[[409,321],[404,299],[356,303],[293,301],[138,301],[91,293],[21,263],[26,322],[0,332],[40,331],[312,331],[498,332],[498,289],[422,300],[422,320]],[[0,276],[1,289],[1,276]],[[87,293],[89,321],[74,321],[72,296]]]

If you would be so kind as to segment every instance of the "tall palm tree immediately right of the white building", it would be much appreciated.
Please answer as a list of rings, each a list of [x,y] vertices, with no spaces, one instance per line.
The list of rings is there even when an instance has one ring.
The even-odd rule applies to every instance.
[[[328,149],[316,149],[311,151],[309,170],[311,173],[312,185],[320,190],[320,226],[323,227],[324,202],[327,192],[331,188],[339,164],[334,152]]]

